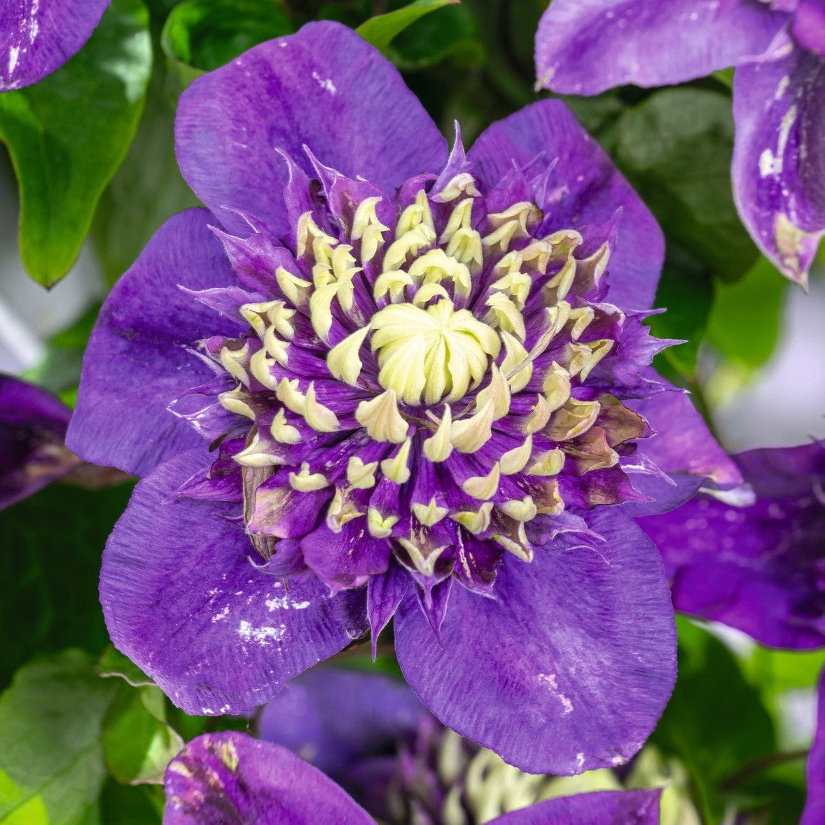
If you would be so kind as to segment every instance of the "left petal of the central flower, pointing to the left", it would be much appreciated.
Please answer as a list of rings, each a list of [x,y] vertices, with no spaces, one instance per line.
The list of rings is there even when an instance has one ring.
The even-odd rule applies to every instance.
[[[94,464],[142,476],[201,443],[167,407],[214,372],[187,347],[209,330],[234,336],[238,325],[178,288],[234,282],[209,212],[177,214],[158,230],[120,278],[92,331],[66,443]]]

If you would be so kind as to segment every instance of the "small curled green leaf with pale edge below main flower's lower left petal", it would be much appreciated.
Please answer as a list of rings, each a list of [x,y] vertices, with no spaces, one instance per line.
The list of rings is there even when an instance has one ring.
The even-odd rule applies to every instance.
[[[120,683],[103,721],[106,766],[125,785],[163,784],[169,760],[183,740],[166,722],[166,699],[156,686]]]

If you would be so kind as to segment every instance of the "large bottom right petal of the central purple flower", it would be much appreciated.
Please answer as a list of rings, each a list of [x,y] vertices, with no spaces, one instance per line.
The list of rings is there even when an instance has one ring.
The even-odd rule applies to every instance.
[[[504,559],[497,601],[454,587],[443,647],[410,596],[398,662],[441,721],[530,773],[615,766],[639,750],[672,691],[676,636],[658,552],[618,512],[588,519],[598,550]],[[472,696],[456,701],[457,696]]]

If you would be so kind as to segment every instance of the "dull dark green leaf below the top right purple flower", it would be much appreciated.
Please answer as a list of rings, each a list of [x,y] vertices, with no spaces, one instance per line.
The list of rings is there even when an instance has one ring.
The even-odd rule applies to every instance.
[[[735,281],[757,247],[733,204],[729,98],[699,88],[654,92],[625,112],[612,147],[669,244],[690,249],[715,276]]]

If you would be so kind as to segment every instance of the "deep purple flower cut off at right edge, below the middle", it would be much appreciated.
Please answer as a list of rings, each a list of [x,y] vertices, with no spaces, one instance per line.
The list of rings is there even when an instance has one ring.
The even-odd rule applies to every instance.
[[[639,520],[657,544],[677,610],[779,648],[825,645],[825,446],[733,456],[756,494],[736,507],[700,494]]]

